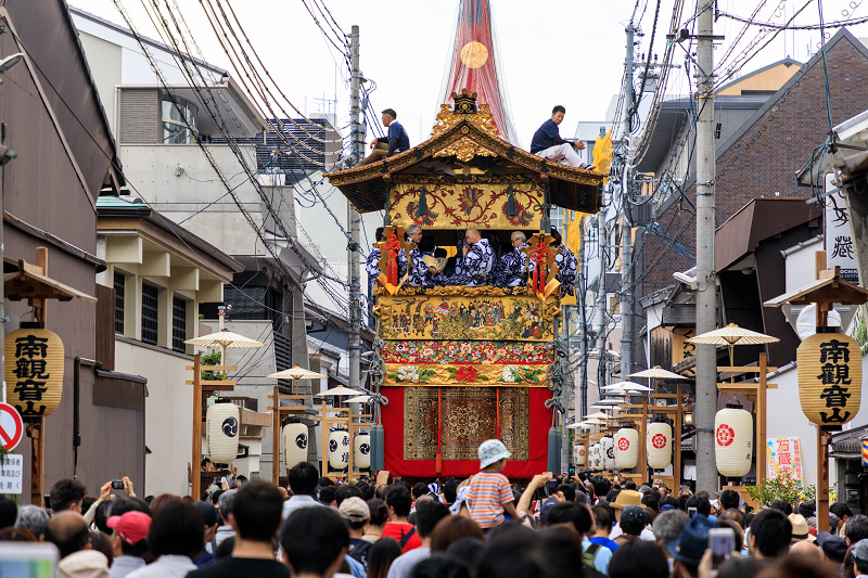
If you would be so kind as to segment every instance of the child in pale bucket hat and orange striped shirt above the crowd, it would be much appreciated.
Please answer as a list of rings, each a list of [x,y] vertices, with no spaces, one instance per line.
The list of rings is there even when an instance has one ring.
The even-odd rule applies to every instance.
[[[470,517],[483,530],[503,523],[503,514],[519,519],[512,503],[512,488],[507,476],[500,472],[507,466],[507,458],[512,455],[499,439],[486,439],[480,445],[478,474],[473,476],[467,493]]]

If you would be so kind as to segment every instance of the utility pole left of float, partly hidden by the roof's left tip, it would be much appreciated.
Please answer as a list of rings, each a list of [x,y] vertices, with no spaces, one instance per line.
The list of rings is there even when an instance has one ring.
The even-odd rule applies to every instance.
[[[349,123],[352,131],[353,164],[361,160],[365,154],[365,134],[360,117],[361,73],[359,72],[359,27],[353,26],[349,35]],[[347,201],[347,203],[349,203]],[[361,293],[359,283],[359,219],[361,217],[350,205],[349,215],[349,387],[358,389],[361,365]]]

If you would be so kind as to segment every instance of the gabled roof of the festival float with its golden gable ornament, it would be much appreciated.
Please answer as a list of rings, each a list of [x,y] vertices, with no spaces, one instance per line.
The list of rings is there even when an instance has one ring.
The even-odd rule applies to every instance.
[[[409,151],[347,170],[330,172],[359,213],[383,210],[392,182],[436,178],[444,182],[528,182],[549,185],[549,202],[583,213],[600,208],[605,175],[546,160],[500,139],[487,104],[476,93],[452,93],[455,107],[441,105],[432,137]]]

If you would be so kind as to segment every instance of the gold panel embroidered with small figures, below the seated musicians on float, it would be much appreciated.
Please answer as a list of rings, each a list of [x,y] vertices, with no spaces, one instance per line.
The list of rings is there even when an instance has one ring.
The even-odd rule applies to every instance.
[[[381,295],[374,314],[384,339],[549,342],[559,304],[533,295]]]

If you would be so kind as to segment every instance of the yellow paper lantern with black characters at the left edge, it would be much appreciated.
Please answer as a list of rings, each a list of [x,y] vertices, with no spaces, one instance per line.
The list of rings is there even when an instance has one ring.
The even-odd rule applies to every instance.
[[[42,323],[7,335],[7,400],[23,418],[51,415],[63,394],[63,342]]]

